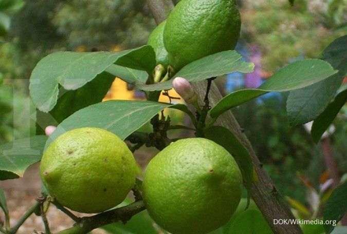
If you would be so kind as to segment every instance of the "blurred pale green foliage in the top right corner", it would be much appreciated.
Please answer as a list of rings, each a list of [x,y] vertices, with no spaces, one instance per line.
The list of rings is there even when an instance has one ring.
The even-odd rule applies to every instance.
[[[291,60],[319,57],[347,33],[346,0],[243,1],[242,35],[262,51],[262,67],[273,72]]]

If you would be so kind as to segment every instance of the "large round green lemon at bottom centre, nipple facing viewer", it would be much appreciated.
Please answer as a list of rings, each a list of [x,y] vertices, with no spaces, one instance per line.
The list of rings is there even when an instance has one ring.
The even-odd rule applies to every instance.
[[[145,172],[149,214],[176,233],[207,233],[225,224],[241,199],[242,175],[230,153],[203,138],[178,140],[160,151]]]

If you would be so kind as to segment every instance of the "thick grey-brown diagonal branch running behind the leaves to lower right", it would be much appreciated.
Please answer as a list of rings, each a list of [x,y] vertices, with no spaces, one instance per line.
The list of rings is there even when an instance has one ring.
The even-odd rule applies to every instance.
[[[171,0],[147,0],[148,5],[156,19],[157,23],[162,22],[167,17],[169,9],[172,9],[173,3]],[[206,82],[193,83],[193,87],[197,93],[204,93],[206,91]],[[212,83],[210,90],[210,104],[214,106],[220,99],[222,94],[217,89],[217,86]],[[199,102],[204,103],[204,100],[199,96]],[[258,205],[263,213],[266,221],[275,233],[302,233],[299,225],[275,225],[274,219],[295,219],[287,204],[284,202],[283,197],[278,192],[275,184],[271,181],[269,176],[262,169],[262,164],[259,162],[257,155],[248,141],[247,137],[241,131],[239,123],[234,118],[231,111],[222,114],[216,121],[217,125],[224,126],[230,129],[239,141],[245,146],[251,155],[252,163],[255,172],[258,175],[258,181],[253,182],[251,189],[251,196],[254,202]]]

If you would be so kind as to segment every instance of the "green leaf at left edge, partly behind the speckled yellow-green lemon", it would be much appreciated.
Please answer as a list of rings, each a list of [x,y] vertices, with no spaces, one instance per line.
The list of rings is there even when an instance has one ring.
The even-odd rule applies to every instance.
[[[41,160],[46,136],[14,140],[0,146],[0,180],[23,177],[28,166]]]

